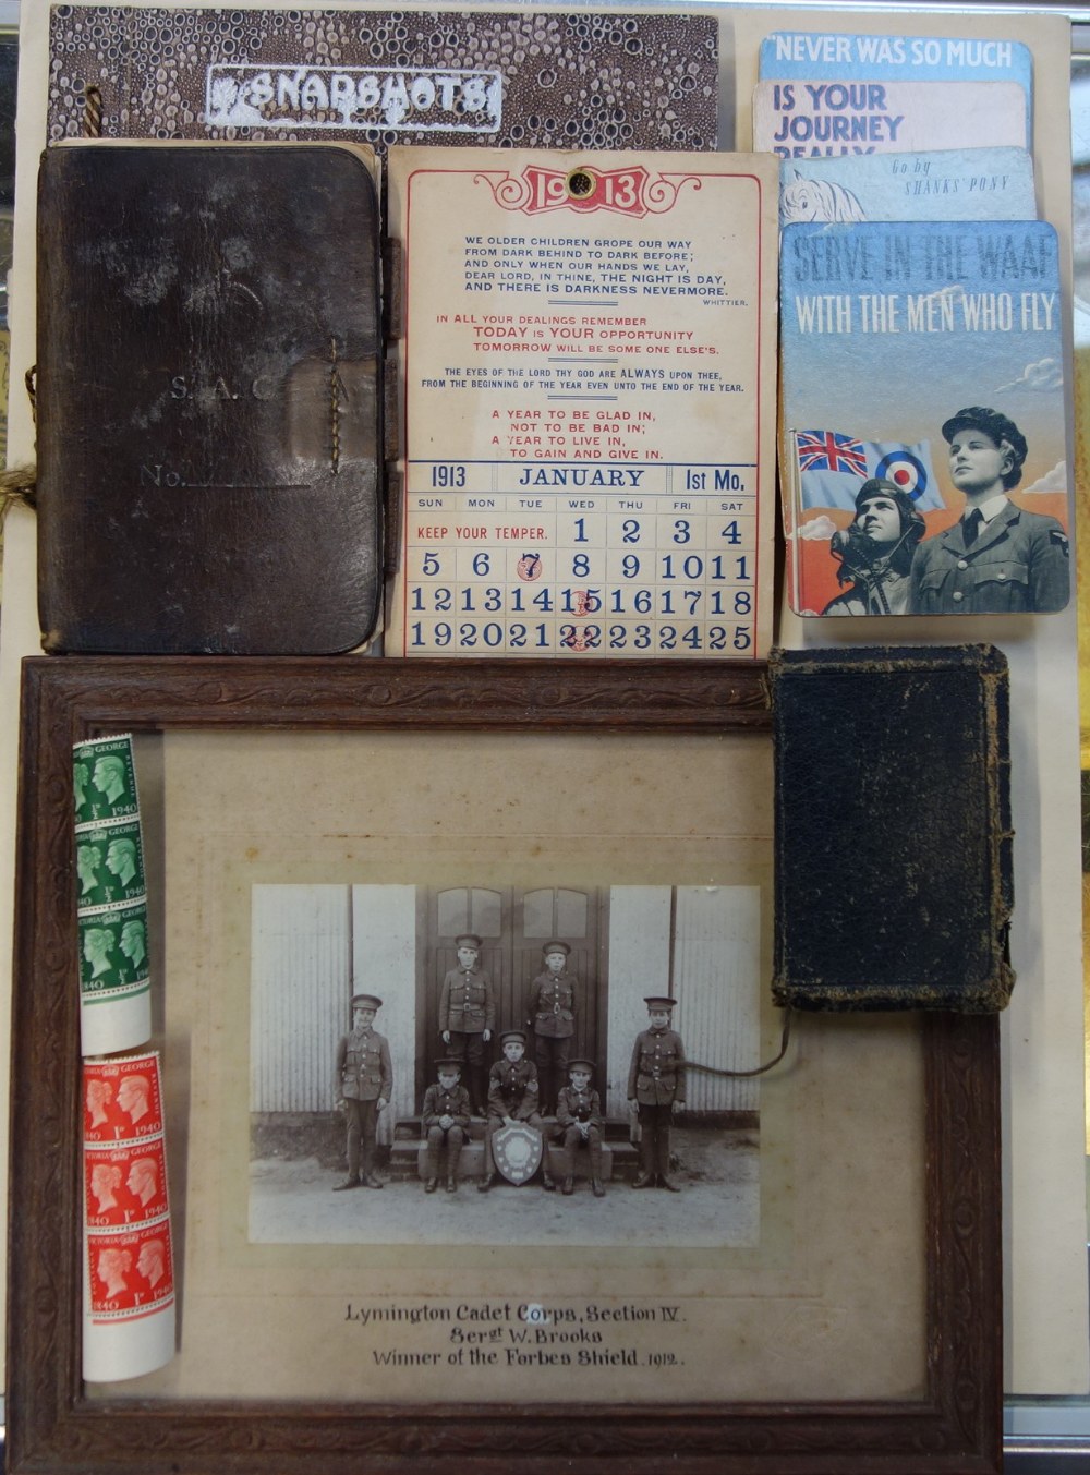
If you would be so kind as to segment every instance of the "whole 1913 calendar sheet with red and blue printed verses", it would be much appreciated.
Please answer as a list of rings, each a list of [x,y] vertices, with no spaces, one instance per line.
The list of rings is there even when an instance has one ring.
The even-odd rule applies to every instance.
[[[763,656],[779,165],[392,150],[388,655]]]

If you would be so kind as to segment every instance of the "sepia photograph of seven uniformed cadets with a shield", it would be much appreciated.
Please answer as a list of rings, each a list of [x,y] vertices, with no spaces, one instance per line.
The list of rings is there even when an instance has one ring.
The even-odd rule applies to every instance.
[[[760,888],[257,885],[249,1236],[760,1235]]]

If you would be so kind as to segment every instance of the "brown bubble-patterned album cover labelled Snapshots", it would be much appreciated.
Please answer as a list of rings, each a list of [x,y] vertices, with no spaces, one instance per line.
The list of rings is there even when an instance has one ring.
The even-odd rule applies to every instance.
[[[49,142],[708,150],[717,78],[712,16],[56,4]]]

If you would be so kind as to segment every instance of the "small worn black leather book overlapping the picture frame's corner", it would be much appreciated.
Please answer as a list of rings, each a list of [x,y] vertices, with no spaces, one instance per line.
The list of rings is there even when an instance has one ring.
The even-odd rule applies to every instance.
[[[1002,1009],[1009,695],[991,646],[780,650],[773,997]]]

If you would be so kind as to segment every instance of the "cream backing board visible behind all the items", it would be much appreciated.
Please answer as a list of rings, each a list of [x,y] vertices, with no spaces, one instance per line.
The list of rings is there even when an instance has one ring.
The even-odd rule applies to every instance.
[[[235,0],[232,7],[242,7]],[[264,4],[261,9],[280,7]],[[314,6],[333,9],[333,4]],[[454,6],[451,6],[453,9]],[[459,4],[468,9],[469,4]],[[25,7],[19,75],[19,201],[12,282],[10,462],[32,460],[34,431],[22,376],[34,363],[34,192],[44,137],[47,4]],[[388,9],[375,6],[373,9]],[[1022,38],[1035,53],[1038,201],[1069,242],[1069,32],[1059,16],[901,16],[853,9],[730,9],[721,15],[724,77],[735,66],[739,128],[748,148],[748,97],[757,43],[774,28],[867,32],[990,34]],[[732,50],[732,32],[735,49]],[[733,87],[724,86],[729,105]],[[16,789],[18,667],[38,652],[34,516],[16,507],[6,525],[0,625],[0,1019],[10,996],[13,796]],[[827,625],[835,624],[835,630]],[[801,622],[786,617],[785,645],[953,643],[990,640],[1012,670],[1015,925],[1019,982],[1003,1022],[1007,1195],[1007,1388],[1016,1394],[1078,1394],[1090,1385],[1083,1137],[1083,982],[1080,951],[1080,786],[1075,620]],[[0,1031],[0,1044],[4,1044]],[[7,1139],[7,1052],[0,1055],[0,1142]],[[3,1233],[0,1230],[0,1233]],[[0,1243],[0,1251],[3,1245]]]

